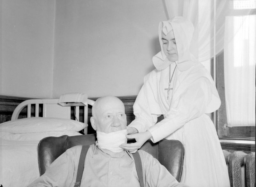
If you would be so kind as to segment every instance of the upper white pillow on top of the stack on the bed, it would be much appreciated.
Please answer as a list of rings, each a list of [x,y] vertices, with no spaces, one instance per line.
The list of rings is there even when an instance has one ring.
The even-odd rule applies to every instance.
[[[88,125],[71,119],[30,117],[0,124],[0,132],[31,133],[50,131],[81,131]]]

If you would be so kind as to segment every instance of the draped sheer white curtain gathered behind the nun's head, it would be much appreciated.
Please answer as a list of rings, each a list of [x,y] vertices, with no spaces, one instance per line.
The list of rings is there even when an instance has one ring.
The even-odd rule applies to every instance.
[[[198,61],[209,60],[223,50],[225,15],[229,11],[228,0],[217,2],[216,0],[165,0],[164,2],[167,19],[183,16],[194,24],[195,32],[190,50]]]

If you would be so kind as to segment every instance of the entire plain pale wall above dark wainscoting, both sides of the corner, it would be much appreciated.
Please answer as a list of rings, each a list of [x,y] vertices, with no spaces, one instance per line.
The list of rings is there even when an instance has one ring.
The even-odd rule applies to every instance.
[[[162,1],[3,0],[2,91],[137,95],[159,50]]]

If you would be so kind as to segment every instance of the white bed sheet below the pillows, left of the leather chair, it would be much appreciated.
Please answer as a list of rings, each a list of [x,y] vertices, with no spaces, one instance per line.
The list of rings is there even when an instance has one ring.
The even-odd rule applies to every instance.
[[[0,141],[0,183],[4,187],[25,187],[39,177],[38,141]]]

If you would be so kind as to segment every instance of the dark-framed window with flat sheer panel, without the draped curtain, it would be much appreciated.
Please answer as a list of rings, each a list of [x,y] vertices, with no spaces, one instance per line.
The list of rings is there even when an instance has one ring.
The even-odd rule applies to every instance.
[[[230,1],[230,8],[224,50],[216,56],[221,99],[217,133],[220,138],[255,140],[256,1]]]

